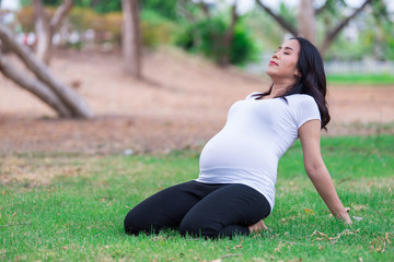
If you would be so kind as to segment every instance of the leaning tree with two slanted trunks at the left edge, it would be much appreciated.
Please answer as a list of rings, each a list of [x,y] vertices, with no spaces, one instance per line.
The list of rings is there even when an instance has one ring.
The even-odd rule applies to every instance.
[[[14,68],[4,55],[1,53],[0,71],[7,78],[15,82],[22,88],[33,93],[56,110],[60,117],[93,117],[93,112],[86,106],[84,100],[69,86],[56,79],[48,67],[43,61],[38,60],[27,47],[19,44],[14,39],[11,31],[2,23],[0,23],[0,39],[1,44],[5,44],[10,51],[15,52],[37,79],[33,79],[20,69]]]

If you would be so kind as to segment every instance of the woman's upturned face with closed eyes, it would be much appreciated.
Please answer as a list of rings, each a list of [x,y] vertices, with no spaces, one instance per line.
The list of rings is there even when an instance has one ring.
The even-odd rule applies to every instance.
[[[269,61],[266,74],[273,80],[289,79],[296,81],[300,76],[297,69],[300,48],[300,43],[297,39],[285,41]]]

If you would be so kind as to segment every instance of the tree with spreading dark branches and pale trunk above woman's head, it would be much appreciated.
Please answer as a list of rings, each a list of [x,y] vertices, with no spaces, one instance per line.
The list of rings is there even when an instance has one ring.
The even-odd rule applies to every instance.
[[[299,15],[298,15],[298,25],[299,28],[297,29],[292,24],[288,23],[281,15],[276,14],[273,12],[266,4],[264,4],[260,0],[256,0],[256,3],[265,10],[269,15],[277,21],[281,27],[288,31],[293,36],[303,36],[312,43],[316,44],[315,35],[316,35],[316,15],[321,14],[325,9],[333,8],[336,2],[344,1],[336,1],[336,0],[326,0],[325,3],[316,9],[313,7],[313,0],[301,0],[299,7]],[[327,48],[332,45],[333,40],[337,37],[337,35],[344,29],[346,25],[356,16],[358,15],[368,4],[371,4],[372,0],[364,0],[363,3],[355,9],[352,13],[346,17],[344,17],[335,27],[327,29],[325,33],[325,37],[321,44],[317,44],[320,51],[322,55],[327,50]]]

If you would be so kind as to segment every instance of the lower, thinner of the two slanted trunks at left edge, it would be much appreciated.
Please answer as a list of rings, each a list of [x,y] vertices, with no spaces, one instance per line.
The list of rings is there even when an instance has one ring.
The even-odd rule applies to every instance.
[[[10,61],[8,61],[4,56],[1,55],[0,71],[4,76],[12,80],[15,84],[37,96],[42,102],[56,110],[60,117],[71,117],[70,110],[65,106],[62,100],[60,100],[59,97],[48,88],[48,86],[35,79],[30,78],[27,74],[21,72],[20,69],[14,68]]]

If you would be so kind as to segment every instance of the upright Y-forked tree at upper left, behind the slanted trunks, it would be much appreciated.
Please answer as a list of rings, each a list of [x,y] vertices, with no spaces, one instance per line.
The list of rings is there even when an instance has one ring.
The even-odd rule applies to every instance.
[[[45,12],[42,0],[32,0],[35,11],[35,32],[37,37],[36,56],[46,64],[49,63],[54,34],[61,26],[61,22],[71,10],[72,0],[63,0],[61,5],[56,10],[54,16],[49,20]]]

